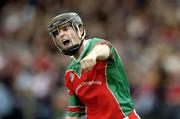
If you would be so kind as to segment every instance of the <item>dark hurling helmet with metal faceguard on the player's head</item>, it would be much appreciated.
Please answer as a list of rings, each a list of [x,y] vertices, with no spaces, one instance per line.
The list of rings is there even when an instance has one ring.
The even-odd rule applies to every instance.
[[[58,43],[57,39],[55,38],[54,33],[55,32],[57,33],[59,31],[58,30],[59,27],[64,26],[64,25],[71,26],[76,31],[79,39],[81,40],[80,43],[73,44],[72,46],[70,46],[68,48],[63,48],[61,46],[61,44]],[[79,17],[79,15],[74,12],[60,14],[60,15],[54,17],[51,20],[51,22],[49,23],[48,31],[50,32],[50,35],[52,36],[56,47],[63,54],[70,55],[70,56],[74,55],[77,53],[77,51],[81,47],[86,33],[85,33],[85,29],[84,29],[83,35],[82,36],[80,35],[80,31],[79,31],[80,26],[84,26],[83,22],[82,22],[81,18]]]

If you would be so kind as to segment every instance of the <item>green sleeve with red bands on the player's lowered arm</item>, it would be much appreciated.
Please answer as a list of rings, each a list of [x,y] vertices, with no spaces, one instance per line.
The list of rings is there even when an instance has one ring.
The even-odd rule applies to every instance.
[[[74,91],[68,90],[68,110],[67,115],[72,117],[81,117],[85,115],[85,106],[78,99]]]

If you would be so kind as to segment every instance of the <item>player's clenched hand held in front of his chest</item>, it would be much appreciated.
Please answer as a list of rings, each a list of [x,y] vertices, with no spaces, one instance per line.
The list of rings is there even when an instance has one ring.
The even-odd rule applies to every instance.
[[[96,54],[88,54],[80,61],[80,64],[82,69],[89,71],[96,64]]]

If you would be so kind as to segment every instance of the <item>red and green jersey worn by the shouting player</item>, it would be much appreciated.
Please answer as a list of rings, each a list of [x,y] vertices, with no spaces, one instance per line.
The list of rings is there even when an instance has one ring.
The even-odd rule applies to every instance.
[[[80,60],[97,43],[110,45],[99,38],[86,41]],[[113,47],[110,56],[107,60],[97,61],[88,72],[81,69],[79,61],[72,61],[65,74],[69,116],[86,113],[87,119],[139,119],[133,111],[134,104],[123,63]]]

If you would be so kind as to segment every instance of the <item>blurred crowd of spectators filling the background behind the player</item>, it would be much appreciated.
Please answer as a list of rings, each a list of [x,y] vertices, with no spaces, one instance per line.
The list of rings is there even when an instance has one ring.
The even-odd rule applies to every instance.
[[[71,59],[47,25],[67,11],[117,49],[142,119],[180,119],[179,0],[1,0],[0,119],[63,119]]]

